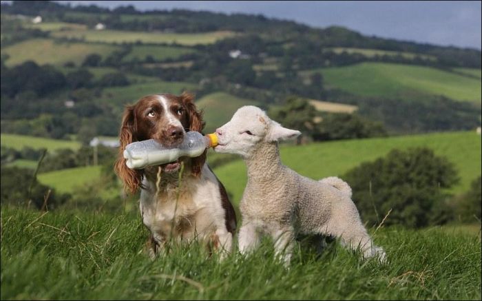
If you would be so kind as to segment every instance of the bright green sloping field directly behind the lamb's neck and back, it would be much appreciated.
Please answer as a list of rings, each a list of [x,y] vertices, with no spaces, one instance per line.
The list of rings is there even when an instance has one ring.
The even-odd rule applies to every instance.
[[[286,145],[281,148],[280,153],[284,165],[303,176],[319,179],[343,176],[349,169],[364,161],[384,156],[390,149],[408,147],[430,147],[435,154],[446,156],[454,163],[461,178],[460,183],[450,189],[455,194],[467,191],[472,180],[481,174],[481,136],[475,132],[369,138],[304,146]],[[238,204],[246,185],[244,162],[236,160],[215,168],[214,172],[233,194],[233,203]]]

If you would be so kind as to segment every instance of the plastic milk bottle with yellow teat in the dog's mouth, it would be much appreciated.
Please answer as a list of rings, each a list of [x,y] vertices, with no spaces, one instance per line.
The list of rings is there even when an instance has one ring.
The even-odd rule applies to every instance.
[[[133,142],[124,150],[126,165],[130,169],[143,169],[177,160],[180,156],[200,156],[208,147],[218,145],[216,134],[202,136],[199,132],[187,132],[182,143],[176,147],[165,147],[154,139]]]

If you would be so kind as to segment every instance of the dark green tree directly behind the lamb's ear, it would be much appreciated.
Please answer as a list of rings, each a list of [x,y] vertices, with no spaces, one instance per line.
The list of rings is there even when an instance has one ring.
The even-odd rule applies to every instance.
[[[269,115],[284,127],[302,132],[302,135],[297,137],[297,144],[301,143],[302,136],[313,136],[317,132],[315,107],[304,98],[291,96],[282,107],[271,109]]]

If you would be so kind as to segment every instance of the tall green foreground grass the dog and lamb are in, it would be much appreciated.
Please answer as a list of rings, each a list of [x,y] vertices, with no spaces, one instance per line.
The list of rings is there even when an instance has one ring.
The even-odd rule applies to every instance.
[[[373,231],[372,231],[373,232]],[[264,242],[219,262],[201,244],[151,261],[138,212],[89,214],[1,207],[1,299],[480,300],[481,240],[435,227],[373,235],[389,264],[334,244],[297,245],[290,269]]]

